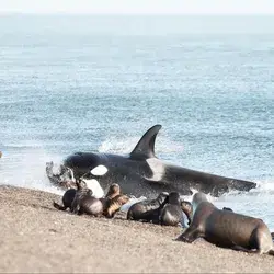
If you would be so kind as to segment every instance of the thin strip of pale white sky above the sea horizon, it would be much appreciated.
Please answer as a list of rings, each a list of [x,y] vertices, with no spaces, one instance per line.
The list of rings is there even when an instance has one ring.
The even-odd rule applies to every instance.
[[[274,0],[0,0],[0,13],[274,14]]]

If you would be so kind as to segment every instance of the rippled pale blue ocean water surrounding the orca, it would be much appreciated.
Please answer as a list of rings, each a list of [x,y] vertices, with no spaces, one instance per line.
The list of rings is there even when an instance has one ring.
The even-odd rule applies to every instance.
[[[0,182],[60,194],[46,161],[130,152],[161,124],[159,158],[256,182],[214,203],[273,230],[273,16],[0,15]]]

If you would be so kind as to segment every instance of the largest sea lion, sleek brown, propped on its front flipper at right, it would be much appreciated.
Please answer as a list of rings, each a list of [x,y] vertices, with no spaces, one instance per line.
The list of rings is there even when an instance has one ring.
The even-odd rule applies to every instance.
[[[218,209],[205,194],[196,194],[193,221],[176,240],[193,242],[201,237],[224,248],[274,254],[271,232],[263,220]]]

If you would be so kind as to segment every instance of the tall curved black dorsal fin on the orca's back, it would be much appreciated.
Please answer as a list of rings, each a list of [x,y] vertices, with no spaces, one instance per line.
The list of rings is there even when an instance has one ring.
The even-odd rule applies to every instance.
[[[156,136],[161,129],[161,125],[150,127],[140,138],[130,153],[130,158],[153,158]]]

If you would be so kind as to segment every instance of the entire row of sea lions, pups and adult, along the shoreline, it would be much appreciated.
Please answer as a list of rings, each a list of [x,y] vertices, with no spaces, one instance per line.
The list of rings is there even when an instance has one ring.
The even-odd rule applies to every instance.
[[[116,183],[111,184],[102,198],[95,198],[84,181],[78,180],[76,185],[76,190],[65,192],[62,205],[53,203],[55,208],[69,208],[71,214],[113,218],[129,202]],[[191,243],[204,238],[218,247],[274,255],[273,233],[262,219],[237,214],[230,208],[218,209],[202,192],[196,193],[192,202],[183,201],[178,192],[161,192],[155,199],[133,204],[127,212],[127,220],[181,226],[183,232],[176,241]]]

